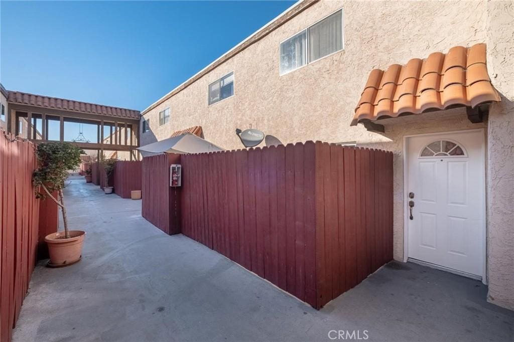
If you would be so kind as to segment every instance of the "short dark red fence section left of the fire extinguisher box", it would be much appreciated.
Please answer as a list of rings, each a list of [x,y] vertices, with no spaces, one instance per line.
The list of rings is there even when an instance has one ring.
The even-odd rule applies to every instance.
[[[142,216],[167,234],[180,233],[180,189],[170,187],[170,165],[179,164],[180,155],[144,157],[142,161]]]

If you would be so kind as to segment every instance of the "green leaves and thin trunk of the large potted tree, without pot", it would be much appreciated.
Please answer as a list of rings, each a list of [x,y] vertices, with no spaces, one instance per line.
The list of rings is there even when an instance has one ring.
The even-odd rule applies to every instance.
[[[32,174],[36,198],[50,198],[61,208],[64,221],[65,237],[69,238],[68,219],[64,206],[63,187],[68,170],[80,165],[80,155],[84,151],[67,142],[49,142],[39,144],[36,148],[36,157],[39,167]],[[58,198],[53,197],[57,192]]]

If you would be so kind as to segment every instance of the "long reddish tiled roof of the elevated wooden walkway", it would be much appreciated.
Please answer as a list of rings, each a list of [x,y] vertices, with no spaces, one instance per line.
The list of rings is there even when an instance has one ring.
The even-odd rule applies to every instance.
[[[140,117],[139,110],[103,106],[99,104],[80,102],[74,100],[51,98],[48,96],[29,94],[21,91],[9,90],[9,96],[7,98],[7,101],[11,103],[18,103],[29,106],[62,109],[68,111],[106,115],[126,119],[139,119]]]

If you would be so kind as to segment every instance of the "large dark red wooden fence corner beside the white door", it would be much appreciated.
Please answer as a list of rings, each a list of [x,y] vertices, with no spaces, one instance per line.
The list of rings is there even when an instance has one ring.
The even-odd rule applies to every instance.
[[[149,220],[181,229],[315,308],[392,259],[390,152],[307,142],[182,155],[176,228],[162,200],[169,158],[143,159],[143,175],[156,178],[145,176],[143,189],[157,187],[145,196],[153,202],[143,201],[146,215],[158,208]]]

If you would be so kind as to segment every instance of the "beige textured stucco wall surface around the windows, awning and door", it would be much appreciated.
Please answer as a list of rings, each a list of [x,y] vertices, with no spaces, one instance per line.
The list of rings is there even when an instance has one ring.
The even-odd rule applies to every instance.
[[[392,150],[395,153],[394,258],[403,260],[403,136],[487,127],[487,123],[471,124],[464,109],[453,109],[388,119],[381,122],[386,125],[386,133],[379,135],[366,131],[362,125],[349,126],[355,105],[373,68],[405,64],[411,58],[426,58],[431,52],[447,52],[456,45],[483,42],[488,43],[490,73],[502,74],[493,79],[493,84],[511,101],[509,48],[514,31],[512,25],[508,27],[505,23],[512,18],[511,14],[510,17],[505,14],[509,4],[320,2],[146,113],[144,117],[150,118],[151,132],[141,134],[141,145],[168,138],[175,130],[201,125],[205,139],[227,149],[241,148],[235,128],[244,129],[251,124],[283,143],[357,141],[358,146]],[[339,8],[344,11],[344,50],[280,76],[280,42]],[[499,22],[498,17],[502,19]],[[497,54],[491,56],[491,53]],[[208,84],[230,71],[234,71],[235,77],[234,96],[208,106]],[[170,123],[159,127],[158,112],[166,107],[171,108]],[[512,115],[512,103],[504,98],[504,102],[493,106],[488,127],[489,149],[494,149],[488,154],[491,164],[488,181],[492,187],[488,193],[488,265],[489,299],[514,309],[511,258],[514,208],[512,201],[508,202],[512,200],[512,192],[509,193],[512,164],[502,158],[506,153],[510,156],[514,153]],[[494,190],[497,184],[506,187],[497,192]],[[510,240],[497,241],[502,236],[510,236]]]

